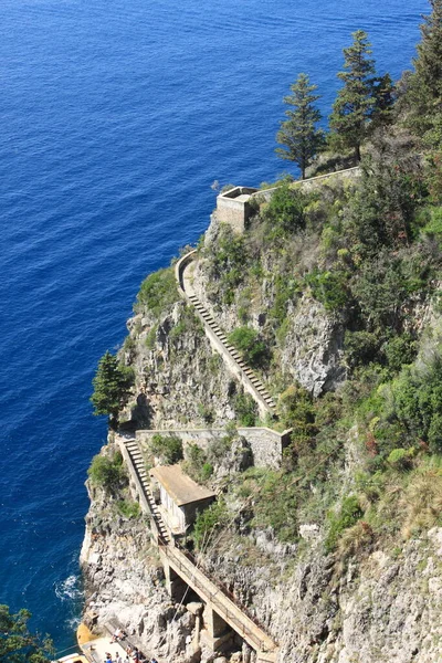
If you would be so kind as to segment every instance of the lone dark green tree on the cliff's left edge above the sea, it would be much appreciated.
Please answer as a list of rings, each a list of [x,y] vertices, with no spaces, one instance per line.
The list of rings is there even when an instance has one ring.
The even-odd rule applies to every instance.
[[[109,414],[113,424],[116,424],[118,412],[127,402],[131,383],[130,369],[120,366],[118,359],[106,351],[93,379],[94,393],[91,402],[94,406],[94,414]]]

